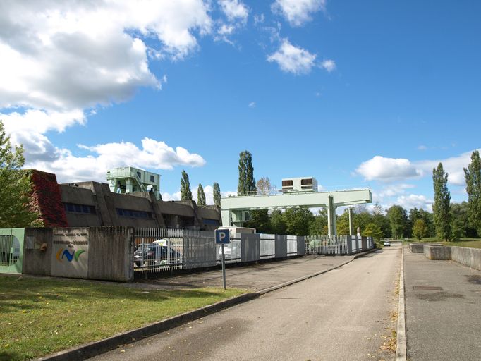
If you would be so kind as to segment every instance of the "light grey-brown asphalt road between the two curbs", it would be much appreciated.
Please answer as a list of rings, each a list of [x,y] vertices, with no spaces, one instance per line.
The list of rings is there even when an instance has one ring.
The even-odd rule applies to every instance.
[[[91,360],[394,360],[401,247]],[[395,347],[395,345],[394,345]]]

